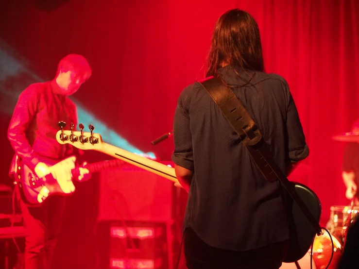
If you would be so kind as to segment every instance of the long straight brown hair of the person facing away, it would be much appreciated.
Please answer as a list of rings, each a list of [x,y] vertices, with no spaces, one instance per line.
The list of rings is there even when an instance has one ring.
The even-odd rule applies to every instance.
[[[222,63],[245,70],[264,70],[258,25],[243,10],[227,11],[214,26],[208,53],[207,77],[217,76],[217,69]]]

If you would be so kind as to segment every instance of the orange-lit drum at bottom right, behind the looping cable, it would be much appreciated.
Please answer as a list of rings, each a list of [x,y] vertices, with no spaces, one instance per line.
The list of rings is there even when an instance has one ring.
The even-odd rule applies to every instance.
[[[315,236],[313,242],[313,260],[317,269],[325,269],[329,263],[332,254],[332,242],[326,231],[324,235]],[[335,235],[331,235],[334,245],[333,259],[328,269],[337,269],[342,257],[342,242]],[[310,250],[309,250],[310,252]]]

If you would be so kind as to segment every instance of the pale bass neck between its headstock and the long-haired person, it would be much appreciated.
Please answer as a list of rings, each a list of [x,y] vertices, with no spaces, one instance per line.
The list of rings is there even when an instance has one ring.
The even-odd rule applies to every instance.
[[[110,144],[107,143],[102,143],[102,144],[103,146],[101,148],[96,149],[96,151],[101,151],[107,155],[120,159],[126,163],[132,164],[139,168],[143,168],[161,177],[167,178],[173,182],[178,182],[176,173],[174,172],[174,168],[168,167],[167,165],[158,163],[154,160],[150,160],[145,157],[139,156],[130,151],[122,150]]]

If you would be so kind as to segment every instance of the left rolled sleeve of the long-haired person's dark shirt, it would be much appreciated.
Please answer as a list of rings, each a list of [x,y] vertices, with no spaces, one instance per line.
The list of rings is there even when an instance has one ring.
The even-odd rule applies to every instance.
[[[189,90],[185,88],[178,98],[173,119],[174,151],[172,161],[183,168],[194,170],[192,134],[189,128]]]

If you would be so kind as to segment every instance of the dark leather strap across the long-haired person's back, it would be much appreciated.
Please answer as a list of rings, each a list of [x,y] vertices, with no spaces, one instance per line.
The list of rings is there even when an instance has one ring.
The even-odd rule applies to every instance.
[[[269,182],[274,182],[277,179],[280,180],[291,195],[293,201],[297,203],[307,217],[317,235],[320,235],[322,229],[319,223],[308,210],[303,200],[295,192],[294,185],[290,183],[287,176],[275,163],[272,153],[268,150],[266,143],[262,139],[262,134],[256,122],[249,115],[233,91],[223,84],[220,78],[209,77],[204,81],[199,81],[199,83],[202,84],[215,103],[220,107],[224,117],[231,123],[233,129],[239,135],[240,140],[266,180]]]

